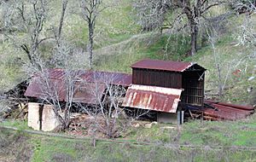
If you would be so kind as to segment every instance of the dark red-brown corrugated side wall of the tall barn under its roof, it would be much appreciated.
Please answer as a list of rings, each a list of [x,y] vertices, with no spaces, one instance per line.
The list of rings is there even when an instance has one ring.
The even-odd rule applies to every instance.
[[[166,88],[181,89],[182,73],[133,68],[132,84],[154,85]]]

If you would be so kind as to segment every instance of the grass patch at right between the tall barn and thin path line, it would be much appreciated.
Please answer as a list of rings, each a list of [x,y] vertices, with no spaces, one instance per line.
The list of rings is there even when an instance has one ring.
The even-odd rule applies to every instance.
[[[250,121],[190,121],[181,129],[164,129],[164,124],[154,125],[151,129],[131,130],[128,139],[140,142],[178,143],[183,145],[204,146],[256,146],[255,115]],[[170,126],[170,125],[168,125]]]

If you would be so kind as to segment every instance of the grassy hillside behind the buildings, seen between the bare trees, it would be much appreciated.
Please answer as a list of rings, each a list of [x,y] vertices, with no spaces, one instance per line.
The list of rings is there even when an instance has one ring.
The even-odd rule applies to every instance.
[[[110,4],[112,1],[106,2]],[[45,28],[58,23],[61,13],[60,4],[61,1],[52,3],[52,11],[55,12],[50,13],[51,16]],[[63,34],[67,41],[78,48],[85,49],[88,28],[78,14],[72,14],[76,10],[75,4],[75,1],[69,3]],[[215,43],[215,53],[208,43],[206,47],[199,49],[195,56],[188,57],[186,55],[189,51],[188,34],[141,33],[132,5],[132,0],[120,1],[104,10],[98,17],[94,57],[96,70],[131,73],[131,64],[143,58],[194,61],[207,68],[206,90],[209,90],[210,97],[216,96],[218,84],[222,83],[224,84],[224,97],[221,100],[255,104],[252,93],[247,92],[248,87],[256,89],[256,79],[248,80],[256,75],[255,47],[236,46],[236,39],[234,39],[242,23],[243,15],[231,17],[229,23],[224,26],[224,33],[218,36]],[[219,12],[216,9],[212,10],[212,14],[220,14]],[[41,49],[43,53],[49,55],[51,53],[50,43],[44,44]],[[26,78],[25,73],[22,72],[22,63],[27,62],[26,55],[23,51],[15,49],[9,41],[4,41],[0,43],[0,57],[0,87],[8,90],[22,78]],[[221,78],[218,77],[218,64]],[[233,75],[232,72],[237,70],[241,71],[239,75]]]

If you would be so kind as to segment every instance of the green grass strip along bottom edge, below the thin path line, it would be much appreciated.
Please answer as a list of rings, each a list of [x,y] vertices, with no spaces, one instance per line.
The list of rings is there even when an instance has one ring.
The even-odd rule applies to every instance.
[[[19,149],[23,151],[15,155],[24,156],[24,153],[31,151],[32,161],[253,161],[256,156],[253,150],[239,150],[236,147],[172,148],[168,147],[167,143],[165,146],[162,143],[140,146],[129,142],[119,144],[97,141],[94,148],[88,140],[27,135],[22,131],[10,130],[2,130],[2,133],[2,136],[10,141],[23,139],[16,140],[15,144],[20,144]]]

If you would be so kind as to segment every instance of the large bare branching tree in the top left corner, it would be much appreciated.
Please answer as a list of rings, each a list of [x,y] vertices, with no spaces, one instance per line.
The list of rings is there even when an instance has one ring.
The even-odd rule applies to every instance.
[[[44,25],[48,14],[48,0],[13,0],[3,5],[5,35],[11,39],[15,46],[26,52],[29,61],[36,64],[40,55],[40,43],[50,37],[44,37]],[[20,33],[27,33],[20,37]]]

